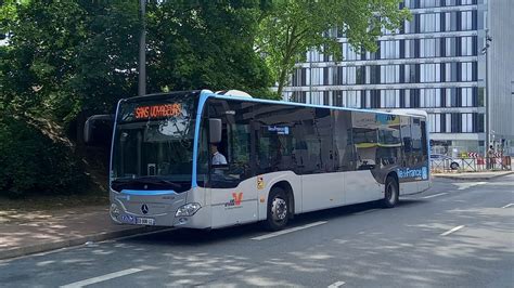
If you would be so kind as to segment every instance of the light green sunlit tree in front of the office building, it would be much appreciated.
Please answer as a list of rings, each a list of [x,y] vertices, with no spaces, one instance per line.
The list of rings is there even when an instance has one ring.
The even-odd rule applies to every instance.
[[[331,29],[346,35],[356,51],[376,50],[382,29],[395,30],[409,17],[401,0],[277,0],[260,17],[256,49],[266,57],[282,95],[295,63],[317,49],[342,60],[340,43]]]

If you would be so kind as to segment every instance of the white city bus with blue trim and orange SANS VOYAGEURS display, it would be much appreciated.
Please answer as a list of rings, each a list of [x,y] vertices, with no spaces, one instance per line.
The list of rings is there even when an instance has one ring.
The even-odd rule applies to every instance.
[[[262,221],[280,230],[295,214],[375,200],[394,207],[400,196],[431,186],[424,113],[233,94],[202,90],[119,101],[113,221],[193,228]],[[98,118],[88,120],[86,139]],[[213,163],[214,146],[226,162]]]

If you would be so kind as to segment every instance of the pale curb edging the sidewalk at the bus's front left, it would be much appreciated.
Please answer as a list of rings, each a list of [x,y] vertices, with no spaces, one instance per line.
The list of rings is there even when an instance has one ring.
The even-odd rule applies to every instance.
[[[104,241],[114,238],[120,238],[147,232],[159,231],[162,227],[134,227],[134,228],[126,228],[120,231],[113,231],[113,232],[102,232],[99,234],[86,235],[81,237],[75,237],[65,240],[52,241],[52,243],[42,243],[38,245],[30,245],[25,247],[16,247],[0,251],[0,260],[7,260],[10,258],[16,258],[22,256],[29,256],[35,253],[48,252],[51,250],[56,250],[61,248],[68,248],[74,246],[80,246],[88,241]]]

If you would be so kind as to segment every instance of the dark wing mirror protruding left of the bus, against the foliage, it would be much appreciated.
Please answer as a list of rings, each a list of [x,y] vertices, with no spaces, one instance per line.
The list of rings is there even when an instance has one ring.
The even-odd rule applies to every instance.
[[[108,145],[113,136],[114,115],[93,115],[83,125],[83,142],[88,145]]]

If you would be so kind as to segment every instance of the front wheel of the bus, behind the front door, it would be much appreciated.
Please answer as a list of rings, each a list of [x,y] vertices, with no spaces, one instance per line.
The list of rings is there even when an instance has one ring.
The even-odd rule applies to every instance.
[[[291,207],[287,194],[280,187],[273,187],[268,197],[268,217],[265,227],[269,231],[279,231],[287,225]]]

